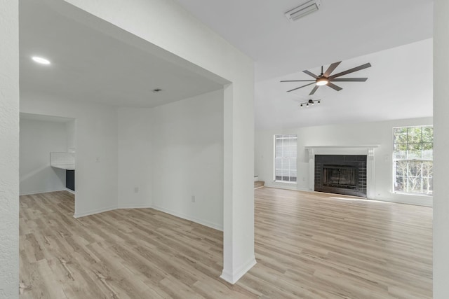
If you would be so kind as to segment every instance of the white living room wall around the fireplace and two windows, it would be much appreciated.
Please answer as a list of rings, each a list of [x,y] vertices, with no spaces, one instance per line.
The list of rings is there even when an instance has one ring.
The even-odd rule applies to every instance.
[[[378,145],[375,149],[375,200],[431,206],[432,197],[391,193],[393,127],[432,125],[432,118],[392,120],[377,123],[300,127],[292,130],[259,131],[255,134],[255,172],[265,186],[309,190],[309,158],[305,146]],[[297,183],[273,181],[274,134],[297,134]]]

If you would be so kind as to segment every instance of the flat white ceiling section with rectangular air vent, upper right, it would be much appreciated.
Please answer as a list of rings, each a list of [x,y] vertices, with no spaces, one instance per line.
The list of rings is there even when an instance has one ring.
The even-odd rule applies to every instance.
[[[321,64],[429,39],[433,0],[321,0],[297,22],[284,13],[306,0],[176,0],[256,62],[263,81]]]

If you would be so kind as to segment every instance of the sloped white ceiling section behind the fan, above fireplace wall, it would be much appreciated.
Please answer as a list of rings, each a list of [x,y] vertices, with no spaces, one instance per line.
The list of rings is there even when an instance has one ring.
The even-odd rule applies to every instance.
[[[286,92],[307,82],[279,81],[309,80],[311,77],[302,71],[256,83],[256,127],[262,130],[432,116],[432,39],[344,60],[334,74],[366,62],[372,67],[342,78],[368,77],[368,81],[337,82],[343,88],[338,92],[322,86],[309,96],[314,85]],[[310,71],[319,74],[321,68]],[[321,104],[300,108],[300,103],[308,99],[321,99]]]

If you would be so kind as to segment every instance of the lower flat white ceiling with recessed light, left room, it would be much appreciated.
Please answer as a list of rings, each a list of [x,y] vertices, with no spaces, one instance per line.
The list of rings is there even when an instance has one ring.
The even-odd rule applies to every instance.
[[[36,64],[34,55],[51,64]],[[46,1],[20,0],[22,95],[154,107],[220,88],[198,72],[76,22]]]

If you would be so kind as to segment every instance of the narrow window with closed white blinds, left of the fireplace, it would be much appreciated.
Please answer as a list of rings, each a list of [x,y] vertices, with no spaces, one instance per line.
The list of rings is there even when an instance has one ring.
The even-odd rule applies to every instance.
[[[297,135],[274,135],[274,180],[296,181]]]

